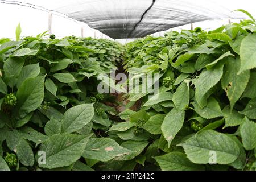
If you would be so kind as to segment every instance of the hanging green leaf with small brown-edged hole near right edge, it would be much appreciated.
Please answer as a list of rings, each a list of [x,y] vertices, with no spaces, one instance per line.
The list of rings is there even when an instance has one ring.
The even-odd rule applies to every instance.
[[[221,78],[221,85],[229,98],[231,109],[242,96],[250,79],[249,70],[243,71],[240,75],[237,75],[239,68],[240,59],[229,58],[225,64],[224,74]]]

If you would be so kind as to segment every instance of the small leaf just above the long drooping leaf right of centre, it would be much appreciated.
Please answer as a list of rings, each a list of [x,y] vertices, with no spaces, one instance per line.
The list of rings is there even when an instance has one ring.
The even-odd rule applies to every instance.
[[[183,81],[176,89],[172,101],[177,110],[183,110],[189,104],[189,82]]]

